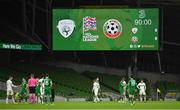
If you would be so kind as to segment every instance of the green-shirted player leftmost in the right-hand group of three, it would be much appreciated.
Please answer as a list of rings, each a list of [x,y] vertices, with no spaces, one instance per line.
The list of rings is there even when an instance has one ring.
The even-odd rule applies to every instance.
[[[119,92],[120,92],[120,101],[124,102],[126,99],[126,81],[124,77],[119,83]]]

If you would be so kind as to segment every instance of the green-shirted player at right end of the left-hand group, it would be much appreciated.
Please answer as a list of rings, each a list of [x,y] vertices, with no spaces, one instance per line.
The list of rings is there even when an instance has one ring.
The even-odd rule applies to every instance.
[[[52,103],[52,95],[51,95],[51,87],[52,87],[52,80],[49,78],[49,75],[43,80],[44,83],[44,102],[47,104],[47,98],[49,97],[50,102]]]

